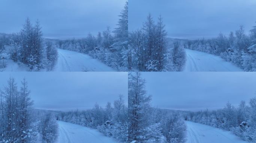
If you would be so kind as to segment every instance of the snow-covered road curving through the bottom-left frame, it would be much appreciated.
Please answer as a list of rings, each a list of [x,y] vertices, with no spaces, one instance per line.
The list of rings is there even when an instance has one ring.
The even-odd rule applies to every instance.
[[[81,125],[58,121],[59,137],[57,143],[117,143],[97,130]]]

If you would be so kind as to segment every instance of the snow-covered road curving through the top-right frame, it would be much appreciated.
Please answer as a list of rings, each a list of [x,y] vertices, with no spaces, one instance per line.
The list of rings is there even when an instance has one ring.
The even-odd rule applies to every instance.
[[[243,71],[224,59],[204,52],[186,49],[184,71]]]

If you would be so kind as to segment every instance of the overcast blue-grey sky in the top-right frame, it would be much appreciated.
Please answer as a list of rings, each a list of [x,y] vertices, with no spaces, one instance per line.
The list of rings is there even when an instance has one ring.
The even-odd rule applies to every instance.
[[[172,38],[211,38],[256,25],[256,0],[129,0],[129,31],[161,14]]]

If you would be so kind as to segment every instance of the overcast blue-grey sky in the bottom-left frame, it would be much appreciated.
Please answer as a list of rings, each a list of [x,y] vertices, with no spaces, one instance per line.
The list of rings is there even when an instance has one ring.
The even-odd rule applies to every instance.
[[[105,107],[107,102],[125,96],[127,104],[127,73],[125,72],[2,72],[0,87],[6,85],[9,76],[18,85],[26,77],[34,107],[68,111],[92,108],[97,102]]]

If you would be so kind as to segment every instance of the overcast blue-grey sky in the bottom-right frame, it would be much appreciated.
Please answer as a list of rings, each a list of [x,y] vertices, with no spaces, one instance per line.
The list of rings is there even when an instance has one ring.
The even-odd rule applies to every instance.
[[[198,111],[237,106],[256,96],[256,74],[250,72],[142,73],[152,106]]]

